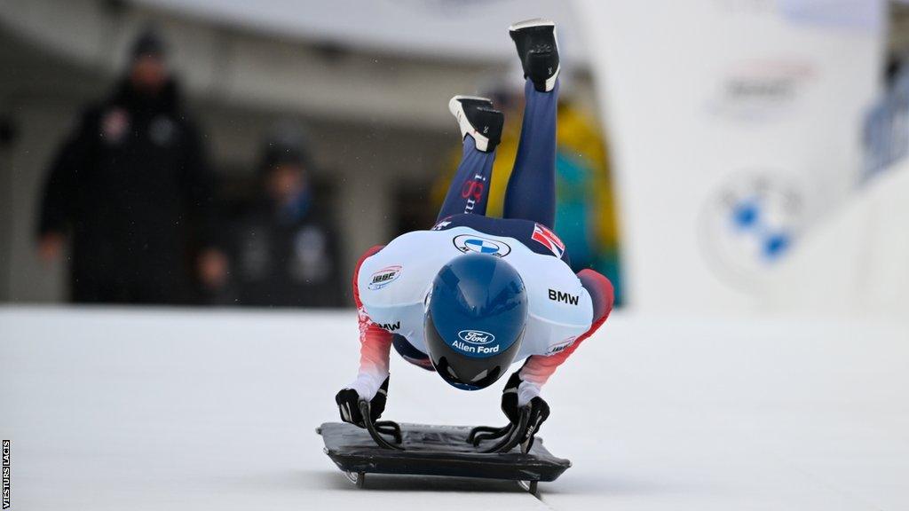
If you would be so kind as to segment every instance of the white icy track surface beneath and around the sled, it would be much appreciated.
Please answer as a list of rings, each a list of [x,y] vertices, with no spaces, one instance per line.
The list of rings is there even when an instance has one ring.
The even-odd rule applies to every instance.
[[[355,373],[353,312],[0,309],[18,510],[909,509],[905,326],[615,315],[553,377],[541,484],[367,477],[315,435]],[[386,417],[504,423],[394,359]]]

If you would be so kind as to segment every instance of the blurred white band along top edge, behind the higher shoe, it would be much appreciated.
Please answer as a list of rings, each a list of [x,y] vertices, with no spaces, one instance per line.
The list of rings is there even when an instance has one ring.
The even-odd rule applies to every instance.
[[[564,32],[560,50],[586,58],[575,44],[574,15],[559,0],[137,0],[207,20],[370,52],[467,61],[514,58],[505,29],[545,17]]]

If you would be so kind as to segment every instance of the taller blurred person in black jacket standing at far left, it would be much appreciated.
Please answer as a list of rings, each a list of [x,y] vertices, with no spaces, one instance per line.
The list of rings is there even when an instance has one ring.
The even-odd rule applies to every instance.
[[[86,108],[55,156],[39,254],[59,257],[69,236],[75,302],[189,302],[194,269],[203,280],[216,279],[223,259],[207,243],[212,188],[165,44],[146,30],[113,94]]]

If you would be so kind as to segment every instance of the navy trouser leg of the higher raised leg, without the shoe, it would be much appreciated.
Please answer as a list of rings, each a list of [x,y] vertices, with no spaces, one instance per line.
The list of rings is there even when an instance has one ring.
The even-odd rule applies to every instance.
[[[504,218],[524,218],[553,228],[555,223],[555,120],[559,84],[538,92],[524,84],[524,124],[514,170],[505,190]]]

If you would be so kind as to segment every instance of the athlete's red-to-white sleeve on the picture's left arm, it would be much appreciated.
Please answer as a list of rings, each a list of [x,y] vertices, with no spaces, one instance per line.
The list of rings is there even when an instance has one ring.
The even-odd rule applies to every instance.
[[[354,388],[361,397],[372,399],[379,386],[388,376],[388,357],[392,346],[392,334],[375,325],[366,315],[363,302],[360,300],[360,289],[357,277],[360,266],[370,255],[382,250],[384,245],[376,245],[366,251],[356,263],[354,271],[354,302],[357,321],[360,326],[360,371],[350,388]]]

